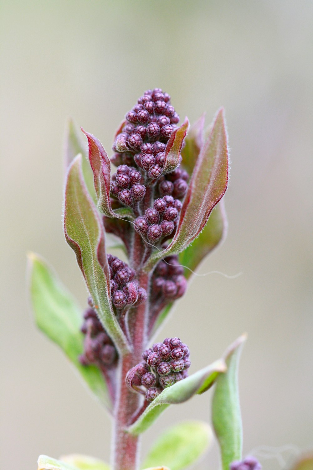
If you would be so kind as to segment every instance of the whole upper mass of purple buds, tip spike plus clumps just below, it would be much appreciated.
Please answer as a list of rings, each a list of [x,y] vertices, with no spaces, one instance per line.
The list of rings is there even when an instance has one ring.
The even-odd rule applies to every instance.
[[[174,235],[188,188],[189,175],[180,167],[163,173],[166,145],[178,122],[170,96],[160,88],[147,90],[126,114],[113,145],[111,161],[117,170],[111,196],[134,209],[135,229],[150,243]],[[144,202],[147,188],[149,198]]]

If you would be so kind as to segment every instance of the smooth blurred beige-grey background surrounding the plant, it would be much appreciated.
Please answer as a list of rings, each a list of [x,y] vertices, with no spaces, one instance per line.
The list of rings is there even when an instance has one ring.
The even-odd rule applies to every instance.
[[[195,371],[247,331],[244,453],[313,447],[312,23],[309,0],[0,1],[1,468],[35,469],[40,453],[108,459],[108,416],[33,324],[25,253],[86,305],[62,234],[64,124],[72,116],[110,150],[154,86],[191,122],[226,109],[229,233],[198,273],[242,273],[194,278],[159,339],[183,338]],[[209,420],[209,393],[168,410],[143,452],[184,417]],[[281,468],[271,455],[264,469]],[[216,446],[197,468],[217,468]]]

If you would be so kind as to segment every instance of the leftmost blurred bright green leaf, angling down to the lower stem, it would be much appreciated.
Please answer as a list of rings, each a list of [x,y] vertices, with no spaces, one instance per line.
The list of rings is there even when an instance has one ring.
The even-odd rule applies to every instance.
[[[96,366],[82,366],[78,360],[84,351],[80,308],[43,258],[30,253],[28,260],[31,304],[38,328],[61,347],[95,396],[112,408],[101,371]]]

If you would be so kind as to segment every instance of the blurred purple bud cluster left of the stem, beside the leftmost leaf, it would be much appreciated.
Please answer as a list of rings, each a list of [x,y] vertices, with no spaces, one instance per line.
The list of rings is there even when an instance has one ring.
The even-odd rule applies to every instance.
[[[96,364],[100,368],[115,366],[117,351],[92,307],[84,312],[81,331],[85,335],[84,353],[79,357],[81,364]]]

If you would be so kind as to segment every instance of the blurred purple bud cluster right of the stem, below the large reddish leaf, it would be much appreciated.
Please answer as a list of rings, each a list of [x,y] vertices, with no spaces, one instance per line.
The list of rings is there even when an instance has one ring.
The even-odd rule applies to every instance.
[[[151,300],[174,300],[183,296],[187,289],[187,280],[183,275],[183,266],[178,256],[168,256],[157,264],[152,277]]]

